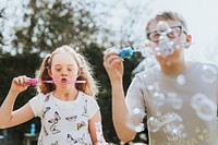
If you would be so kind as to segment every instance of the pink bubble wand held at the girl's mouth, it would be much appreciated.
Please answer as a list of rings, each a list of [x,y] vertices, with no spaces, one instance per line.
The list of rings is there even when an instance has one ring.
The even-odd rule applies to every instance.
[[[68,83],[68,84],[76,84],[76,83],[80,83],[80,84],[84,84],[86,83],[86,81],[38,81],[36,78],[31,78],[29,80],[29,85],[37,85],[38,83],[48,83],[48,84],[53,84],[53,83]]]

